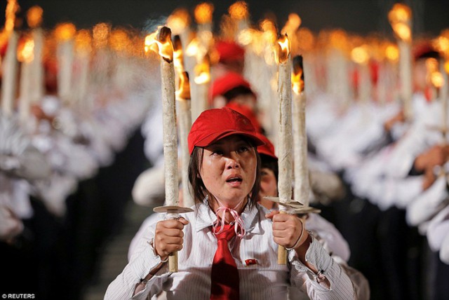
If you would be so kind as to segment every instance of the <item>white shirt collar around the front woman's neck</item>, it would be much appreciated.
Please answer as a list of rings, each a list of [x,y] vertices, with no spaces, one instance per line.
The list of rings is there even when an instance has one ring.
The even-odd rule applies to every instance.
[[[196,232],[205,229],[206,227],[212,226],[213,222],[217,219],[217,216],[210,209],[207,199],[203,200],[196,207]],[[260,219],[259,214],[264,213],[260,210],[259,205],[246,205],[245,210],[241,213],[241,218],[243,219],[243,224],[245,226],[246,233],[260,234],[262,230],[258,221]]]

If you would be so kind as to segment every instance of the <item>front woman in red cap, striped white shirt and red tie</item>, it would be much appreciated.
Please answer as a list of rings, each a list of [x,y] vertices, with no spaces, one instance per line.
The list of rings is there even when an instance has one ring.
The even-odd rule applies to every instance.
[[[209,109],[189,133],[194,212],[149,227],[105,299],[288,299],[288,287],[311,299],[354,299],[342,268],[293,214],[257,204],[263,144],[248,118]],[[222,236],[223,234],[226,237]],[[277,247],[288,263],[277,263]],[[178,272],[166,261],[178,252]]]

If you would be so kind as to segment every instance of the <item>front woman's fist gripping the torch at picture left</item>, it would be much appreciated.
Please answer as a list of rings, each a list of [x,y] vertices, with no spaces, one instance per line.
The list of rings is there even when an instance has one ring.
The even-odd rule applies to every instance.
[[[153,246],[154,250],[156,250],[156,254],[161,257],[161,260],[166,260],[170,253],[182,249],[184,237],[182,229],[184,229],[184,226],[187,224],[189,224],[189,221],[183,217],[157,222]]]

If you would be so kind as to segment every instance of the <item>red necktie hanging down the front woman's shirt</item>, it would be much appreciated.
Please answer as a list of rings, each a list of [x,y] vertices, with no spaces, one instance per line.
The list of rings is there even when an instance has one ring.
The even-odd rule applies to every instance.
[[[211,300],[239,299],[239,271],[227,245],[235,235],[234,226],[229,224],[225,225],[221,233],[215,234],[218,247],[213,257],[210,275],[212,280],[210,287]]]

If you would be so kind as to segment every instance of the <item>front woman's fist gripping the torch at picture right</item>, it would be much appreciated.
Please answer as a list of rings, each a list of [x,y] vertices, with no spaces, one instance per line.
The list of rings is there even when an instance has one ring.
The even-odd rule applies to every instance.
[[[272,211],[265,217],[273,220],[273,236],[276,244],[286,248],[297,248],[307,239],[305,234],[301,236],[302,231],[305,230],[304,223],[294,214],[281,214],[279,211]]]

